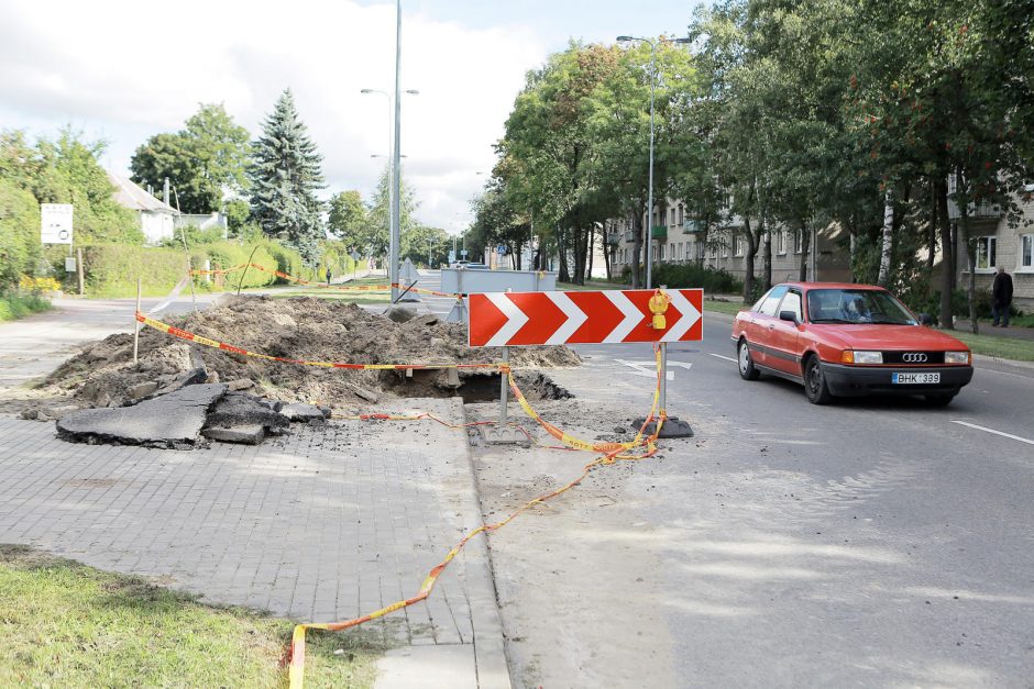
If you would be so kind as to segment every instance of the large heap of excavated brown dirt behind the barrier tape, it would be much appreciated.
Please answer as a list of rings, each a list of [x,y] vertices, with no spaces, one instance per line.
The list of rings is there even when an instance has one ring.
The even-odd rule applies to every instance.
[[[466,327],[433,314],[398,323],[356,304],[334,300],[234,297],[222,307],[169,319],[183,330],[250,352],[311,362],[349,364],[476,364],[502,359],[499,348],[470,348]],[[78,407],[119,407],[184,385],[226,382],[231,390],[286,402],[342,407],[375,403],[383,396],[461,394],[468,377],[490,369],[349,370],[280,364],[188,344],[151,327],[140,333],[134,365],[133,336],[111,335],[89,344],[44,381]],[[510,365],[521,368],[576,366],[566,347],[520,347]],[[417,375],[415,375],[417,374]],[[541,385],[540,373],[518,374]],[[529,397],[534,397],[534,392]]]

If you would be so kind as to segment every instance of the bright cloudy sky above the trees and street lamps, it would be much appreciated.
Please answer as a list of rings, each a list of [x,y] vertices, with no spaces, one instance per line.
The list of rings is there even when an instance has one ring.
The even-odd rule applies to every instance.
[[[417,218],[459,232],[525,75],[571,38],[685,32],[696,2],[403,0],[402,154]],[[253,137],[290,88],[323,155],[326,195],[370,198],[391,136],[395,2],[0,0],[0,130],[66,124],[129,175],[150,136],[223,103]]]

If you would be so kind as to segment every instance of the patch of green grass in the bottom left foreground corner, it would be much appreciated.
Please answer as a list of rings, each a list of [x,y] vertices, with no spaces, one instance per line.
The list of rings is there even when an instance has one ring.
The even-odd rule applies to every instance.
[[[293,626],[0,545],[2,687],[285,687]],[[371,634],[310,632],[306,686],[372,687],[385,647]]]

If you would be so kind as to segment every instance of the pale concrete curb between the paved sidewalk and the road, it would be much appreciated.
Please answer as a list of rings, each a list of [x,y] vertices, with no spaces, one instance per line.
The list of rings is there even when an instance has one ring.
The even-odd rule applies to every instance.
[[[452,398],[458,409],[461,423],[468,423],[466,409],[461,398]],[[474,476],[474,453],[463,431],[464,448],[470,467],[471,502],[476,511],[463,511],[463,527],[469,532],[483,526],[481,498],[477,494],[477,478]],[[503,619],[499,615],[498,596],[495,590],[492,554],[488,551],[488,534],[468,543],[464,551],[464,564],[470,575],[469,590],[471,624],[474,627],[474,666],[477,673],[479,689],[513,689],[509,676],[509,660],[506,657],[506,644],[503,640]]]

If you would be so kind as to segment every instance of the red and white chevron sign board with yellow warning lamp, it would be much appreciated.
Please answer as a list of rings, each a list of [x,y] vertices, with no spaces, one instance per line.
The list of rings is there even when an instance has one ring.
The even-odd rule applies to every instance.
[[[698,342],[704,290],[664,290],[666,327],[652,327],[652,289],[602,292],[487,292],[471,295],[472,347]]]

